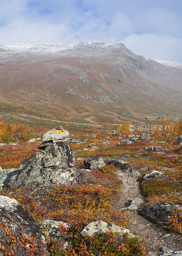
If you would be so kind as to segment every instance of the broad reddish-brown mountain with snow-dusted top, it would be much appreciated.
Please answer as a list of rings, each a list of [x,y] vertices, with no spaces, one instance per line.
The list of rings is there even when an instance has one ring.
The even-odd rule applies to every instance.
[[[181,72],[122,43],[0,44],[0,100],[75,120],[179,115]]]

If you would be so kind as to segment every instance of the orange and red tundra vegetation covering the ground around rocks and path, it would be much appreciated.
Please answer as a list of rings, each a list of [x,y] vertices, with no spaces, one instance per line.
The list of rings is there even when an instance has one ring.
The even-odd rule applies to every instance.
[[[116,233],[95,233],[94,236],[82,235],[80,232],[91,222],[102,220],[107,223],[127,228],[135,235],[132,229],[133,217],[129,211],[115,207],[123,190],[123,182],[117,175],[117,167],[109,165],[109,159],[126,161],[132,168],[140,169],[140,189],[145,198],[144,211],[150,204],[168,203],[182,205],[182,149],[181,145],[173,145],[176,137],[182,133],[181,120],[172,124],[165,118],[160,121],[162,125],[170,125],[168,132],[153,132],[149,142],[137,140],[131,144],[123,144],[116,147],[121,140],[119,136],[127,137],[129,123],[118,125],[116,133],[119,134],[108,139],[112,130],[104,130],[95,125],[90,129],[72,132],[74,139],[85,140],[85,144],[94,143],[95,150],[83,151],[85,144],[71,144],[75,153],[75,166],[79,172],[78,183],[74,185],[56,185],[47,188],[33,188],[23,186],[18,189],[3,188],[0,195],[16,199],[19,204],[28,211],[33,219],[40,223],[43,220],[62,221],[69,224],[66,229],[60,224],[59,239],[46,238],[47,250],[51,256],[142,256],[148,252],[147,241],[139,238],[129,238],[127,234],[118,236]],[[158,124],[159,125],[159,124]],[[37,131],[37,130],[35,130]],[[40,151],[37,148],[40,141],[25,142],[33,132],[23,125],[7,124],[1,121],[0,136],[5,141],[13,140],[13,136],[19,137],[18,145],[5,145],[0,148],[0,165],[3,169],[17,168],[20,162]],[[94,132],[96,137],[91,136]],[[44,133],[43,131],[39,136]],[[38,137],[38,136],[37,136]],[[106,138],[107,137],[107,138]],[[110,145],[100,144],[109,140]],[[159,154],[156,150],[144,151],[145,146],[161,146],[158,141],[165,140]],[[87,158],[101,157],[106,165],[92,171],[85,169],[83,161]],[[107,161],[108,159],[108,161]],[[144,168],[145,167],[145,168]],[[163,178],[154,178],[142,182],[145,174],[152,170],[163,172]],[[10,220],[13,222],[14,220]],[[164,228],[173,230],[182,235],[182,210],[172,210],[169,223]],[[21,229],[21,227],[20,227]],[[45,228],[46,229],[46,228]],[[42,231],[45,231],[42,228]],[[5,237],[5,243],[0,247],[0,255],[46,255],[45,250],[37,244],[32,236],[24,236],[24,230],[18,234],[12,233],[8,225],[0,222],[0,234]],[[68,242],[69,241],[69,242]],[[65,246],[67,243],[67,246]],[[23,248],[23,249],[22,249]]]

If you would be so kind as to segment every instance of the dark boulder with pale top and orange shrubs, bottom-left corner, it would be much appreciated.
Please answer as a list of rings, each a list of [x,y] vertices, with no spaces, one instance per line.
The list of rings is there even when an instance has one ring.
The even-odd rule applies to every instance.
[[[0,246],[11,249],[10,252],[13,251],[16,255],[30,255],[28,248],[31,240],[28,236],[31,236],[37,244],[35,247],[38,247],[35,250],[46,252],[45,237],[40,227],[32,216],[18,204],[17,200],[0,196],[0,220]],[[0,247],[0,255],[9,255],[3,251],[2,247]],[[43,255],[39,253],[36,255]]]

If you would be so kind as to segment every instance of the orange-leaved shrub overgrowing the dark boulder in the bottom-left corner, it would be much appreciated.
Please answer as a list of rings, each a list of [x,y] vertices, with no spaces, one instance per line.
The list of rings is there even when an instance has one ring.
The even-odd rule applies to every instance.
[[[13,224],[14,220],[9,219]],[[16,225],[19,230],[13,232],[10,229],[12,225],[0,220],[0,255],[46,256],[43,244],[37,244],[33,236],[27,236],[20,223]]]

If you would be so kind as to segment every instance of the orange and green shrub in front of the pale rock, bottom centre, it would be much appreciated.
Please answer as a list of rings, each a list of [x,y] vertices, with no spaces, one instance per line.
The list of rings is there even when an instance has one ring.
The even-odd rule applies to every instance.
[[[108,232],[95,233],[92,237],[73,232],[65,250],[54,241],[49,241],[47,248],[51,256],[140,256],[145,253],[145,247],[138,238],[129,238],[127,234],[120,237]]]

